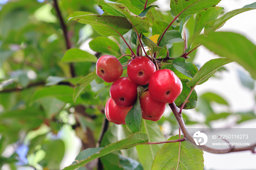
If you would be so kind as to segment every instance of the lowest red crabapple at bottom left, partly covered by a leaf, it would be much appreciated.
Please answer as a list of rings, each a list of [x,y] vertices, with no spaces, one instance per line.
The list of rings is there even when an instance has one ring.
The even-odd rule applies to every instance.
[[[112,98],[109,98],[105,106],[105,115],[110,122],[115,124],[125,124],[125,116],[131,108],[132,107],[117,106]]]

